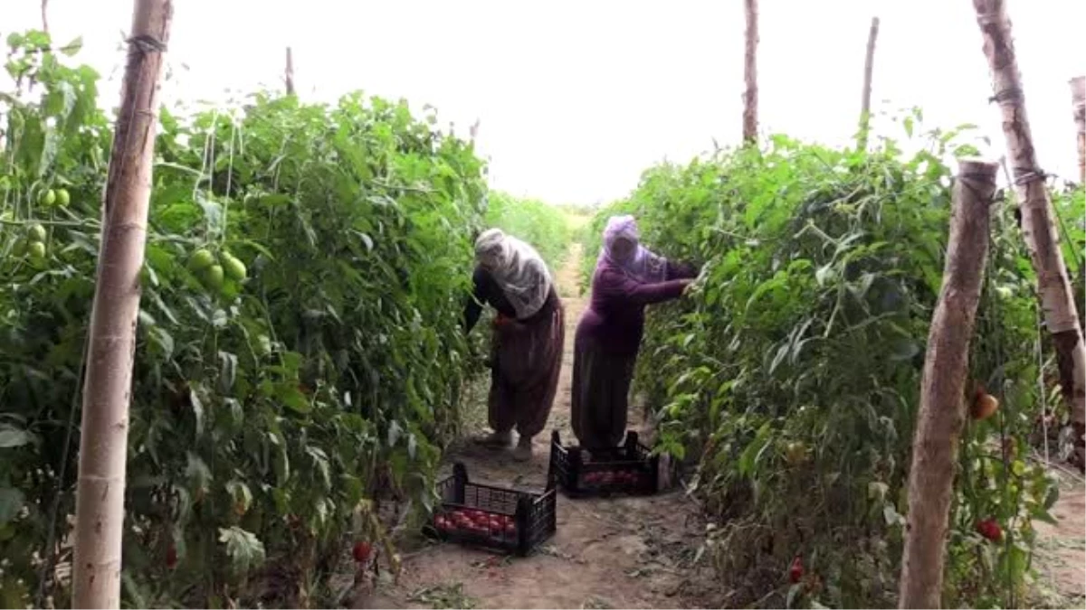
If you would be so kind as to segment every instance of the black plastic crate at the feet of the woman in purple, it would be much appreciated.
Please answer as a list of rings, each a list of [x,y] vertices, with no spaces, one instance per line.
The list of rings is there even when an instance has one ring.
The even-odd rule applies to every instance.
[[[628,494],[653,495],[659,487],[659,456],[637,441],[630,430],[626,442],[614,448],[588,452],[577,445],[561,446],[555,430],[551,434],[548,479],[557,481],[571,497]]]

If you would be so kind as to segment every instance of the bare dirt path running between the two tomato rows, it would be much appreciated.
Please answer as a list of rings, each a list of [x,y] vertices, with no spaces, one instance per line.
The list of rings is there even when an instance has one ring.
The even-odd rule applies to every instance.
[[[578,296],[581,247],[574,244],[558,283],[567,307],[566,353],[547,433],[534,440],[529,463],[509,453],[454,448],[446,462],[465,462],[475,481],[525,490],[544,486],[550,430],[569,429],[573,333],[584,310]],[[632,409],[640,411],[640,409]],[[634,414],[631,412],[631,417]],[[631,422],[637,428],[640,421]],[[447,467],[446,467],[447,469]],[[579,499],[558,496],[558,531],[534,556],[509,558],[432,545],[408,552],[396,585],[356,608],[502,608],[671,610],[717,608],[706,599],[708,579],[691,568],[705,532],[697,507],[682,492],[648,498]]]

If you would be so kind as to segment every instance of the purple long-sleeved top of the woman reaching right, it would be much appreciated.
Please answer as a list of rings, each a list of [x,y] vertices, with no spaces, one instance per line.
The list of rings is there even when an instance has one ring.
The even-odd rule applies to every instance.
[[[641,347],[645,332],[645,306],[682,296],[696,270],[667,263],[665,280],[642,283],[628,277],[606,259],[592,276],[592,300],[577,327],[577,341],[591,339],[606,352],[630,356]]]

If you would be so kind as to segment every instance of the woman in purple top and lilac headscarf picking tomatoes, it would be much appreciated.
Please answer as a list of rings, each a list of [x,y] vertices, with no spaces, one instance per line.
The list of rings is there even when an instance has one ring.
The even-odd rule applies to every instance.
[[[641,245],[633,216],[608,219],[592,300],[573,344],[571,417],[582,447],[622,442],[645,306],[682,296],[695,276]]]

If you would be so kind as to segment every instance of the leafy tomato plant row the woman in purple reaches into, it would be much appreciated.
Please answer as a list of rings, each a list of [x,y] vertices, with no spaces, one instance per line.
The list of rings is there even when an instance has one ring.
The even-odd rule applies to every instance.
[[[652,316],[639,385],[658,449],[698,467],[710,555],[746,602],[781,588],[830,607],[894,605],[947,239],[945,160],[975,152],[963,136],[915,135],[915,155],[888,140],[866,153],[774,137],[652,168],[590,228],[633,213],[649,247],[705,264],[689,298]],[[998,401],[984,399],[995,415],[971,419],[962,442],[947,607],[1021,599],[1032,524],[1057,498],[1021,457],[1041,408],[1041,334],[1011,211],[993,227],[970,365]]]

